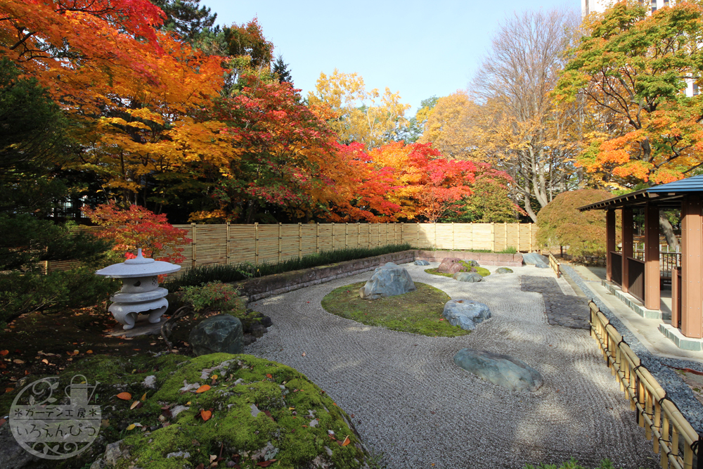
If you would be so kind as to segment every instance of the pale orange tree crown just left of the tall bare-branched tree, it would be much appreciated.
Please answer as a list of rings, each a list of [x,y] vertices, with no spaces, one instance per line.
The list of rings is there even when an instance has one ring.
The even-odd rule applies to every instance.
[[[446,158],[467,160],[471,158],[470,118],[472,103],[468,93],[456,91],[449,96],[437,99],[437,103],[428,110],[423,124],[420,143],[432,143]]]

